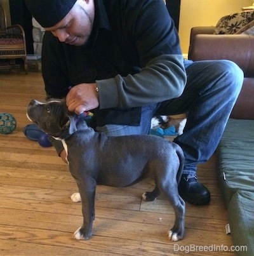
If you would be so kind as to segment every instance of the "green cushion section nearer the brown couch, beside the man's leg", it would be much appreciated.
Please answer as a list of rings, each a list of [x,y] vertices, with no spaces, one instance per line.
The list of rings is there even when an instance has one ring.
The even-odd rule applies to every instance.
[[[240,190],[254,192],[254,120],[229,119],[217,148],[218,179],[228,206]]]

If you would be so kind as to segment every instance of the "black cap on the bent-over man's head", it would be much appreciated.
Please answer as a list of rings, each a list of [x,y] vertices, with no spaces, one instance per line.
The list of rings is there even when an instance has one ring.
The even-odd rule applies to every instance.
[[[25,0],[32,16],[42,27],[53,27],[60,22],[77,0]]]

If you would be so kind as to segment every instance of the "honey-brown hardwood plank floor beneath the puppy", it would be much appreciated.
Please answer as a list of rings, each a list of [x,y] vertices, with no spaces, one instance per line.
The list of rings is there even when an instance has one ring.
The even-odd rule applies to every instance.
[[[183,240],[174,243],[166,236],[174,214],[163,196],[151,203],[140,199],[153,187],[143,180],[122,189],[98,186],[93,236],[76,241],[72,234],[82,223],[81,204],[70,200],[77,188],[67,165],[53,147],[23,135],[27,104],[44,100],[41,74],[1,72],[0,90],[0,112],[17,119],[13,133],[0,134],[0,255],[234,255],[225,252],[232,240],[225,234],[227,211],[215,155],[197,172],[210,189],[211,203],[186,204]]]

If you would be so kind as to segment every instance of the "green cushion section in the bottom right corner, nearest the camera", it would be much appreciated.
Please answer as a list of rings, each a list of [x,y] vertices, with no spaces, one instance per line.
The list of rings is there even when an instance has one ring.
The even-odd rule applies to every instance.
[[[238,191],[229,203],[229,225],[236,255],[253,255],[254,252],[254,192]],[[239,246],[239,247],[238,247]],[[244,247],[243,247],[244,246]]]

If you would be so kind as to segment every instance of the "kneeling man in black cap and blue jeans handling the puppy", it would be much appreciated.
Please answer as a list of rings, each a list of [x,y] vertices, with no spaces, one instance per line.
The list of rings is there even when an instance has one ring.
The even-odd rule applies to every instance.
[[[197,163],[215,151],[243,83],[227,61],[184,61],[162,0],[26,0],[44,27],[42,72],[50,97],[95,114],[107,135],[147,134],[155,114],[188,113],[175,142],[184,150],[182,198],[204,205],[210,192]],[[187,83],[186,83],[187,81]],[[65,151],[57,146],[65,159]]]

